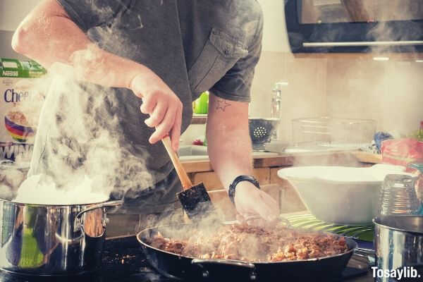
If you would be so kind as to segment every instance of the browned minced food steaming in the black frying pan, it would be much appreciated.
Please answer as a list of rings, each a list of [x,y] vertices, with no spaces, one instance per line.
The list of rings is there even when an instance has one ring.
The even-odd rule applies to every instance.
[[[286,226],[267,228],[233,224],[216,231],[190,230],[187,238],[164,238],[149,245],[176,255],[199,259],[236,259],[245,262],[283,262],[338,255],[348,251],[345,238]]]

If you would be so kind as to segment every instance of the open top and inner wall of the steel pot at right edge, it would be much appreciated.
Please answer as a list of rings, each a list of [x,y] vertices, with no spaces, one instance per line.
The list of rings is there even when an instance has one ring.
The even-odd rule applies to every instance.
[[[376,226],[383,226],[396,231],[423,234],[423,216],[418,215],[388,215],[373,219]]]

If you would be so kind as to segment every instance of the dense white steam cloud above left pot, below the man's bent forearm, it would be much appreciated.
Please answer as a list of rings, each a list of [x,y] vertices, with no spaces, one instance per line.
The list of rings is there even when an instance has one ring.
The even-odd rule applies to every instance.
[[[37,196],[35,192],[28,193],[30,190],[25,188],[30,186],[28,182],[32,183],[33,191],[39,192],[54,185],[62,190],[60,195],[80,188],[78,202],[85,203],[92,199],[90,191],[106,195],[107,199],[111,192],[122,197],[130,188],[151,186],[153,179],[145,166],[148,154],[135,157],[122,146],[123,133],[114,112],[117,103],[114,95],[104,87],[73,80],[67,68],[56,64],[42,79],[50,85],[41,112],[42,122],[47,122],[49,128],[43,153],[46,158],[39,160],[36,164],[39,168],[32,170],[33,176],[23,183],[18,200],[27,202],[29,197],[33,203],[32,197]],[[109,106],[104,106],[105,103]],[[44,171],[48,176],[40,176]],[[60,203],[51,201],[54,200],[51,198],[49,204],[71,200],[58,197],[56,201]]]

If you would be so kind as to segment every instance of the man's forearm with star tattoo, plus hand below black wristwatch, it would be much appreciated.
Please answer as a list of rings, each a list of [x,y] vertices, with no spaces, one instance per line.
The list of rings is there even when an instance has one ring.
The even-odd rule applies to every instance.
[[[248,123],[247,103],[222,99],[213,93],[209,95],[208,152],[212,167],[226,190],[236,177],[252,174]],[[247,223],[259,224],[261,219],[274,221],[278,216],[278,203],[247,181],[236,186],[233,203]]]

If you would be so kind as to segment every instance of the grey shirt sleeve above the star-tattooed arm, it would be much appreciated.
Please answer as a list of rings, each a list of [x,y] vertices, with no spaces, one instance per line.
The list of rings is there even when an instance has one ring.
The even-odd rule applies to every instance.
[[[262,53],[263,20],[259,27],[247,56],[238,60],[235,65],[210,90],[217,97],[237,102],[250,102],[251,84],[254,78],[255,66]]]

